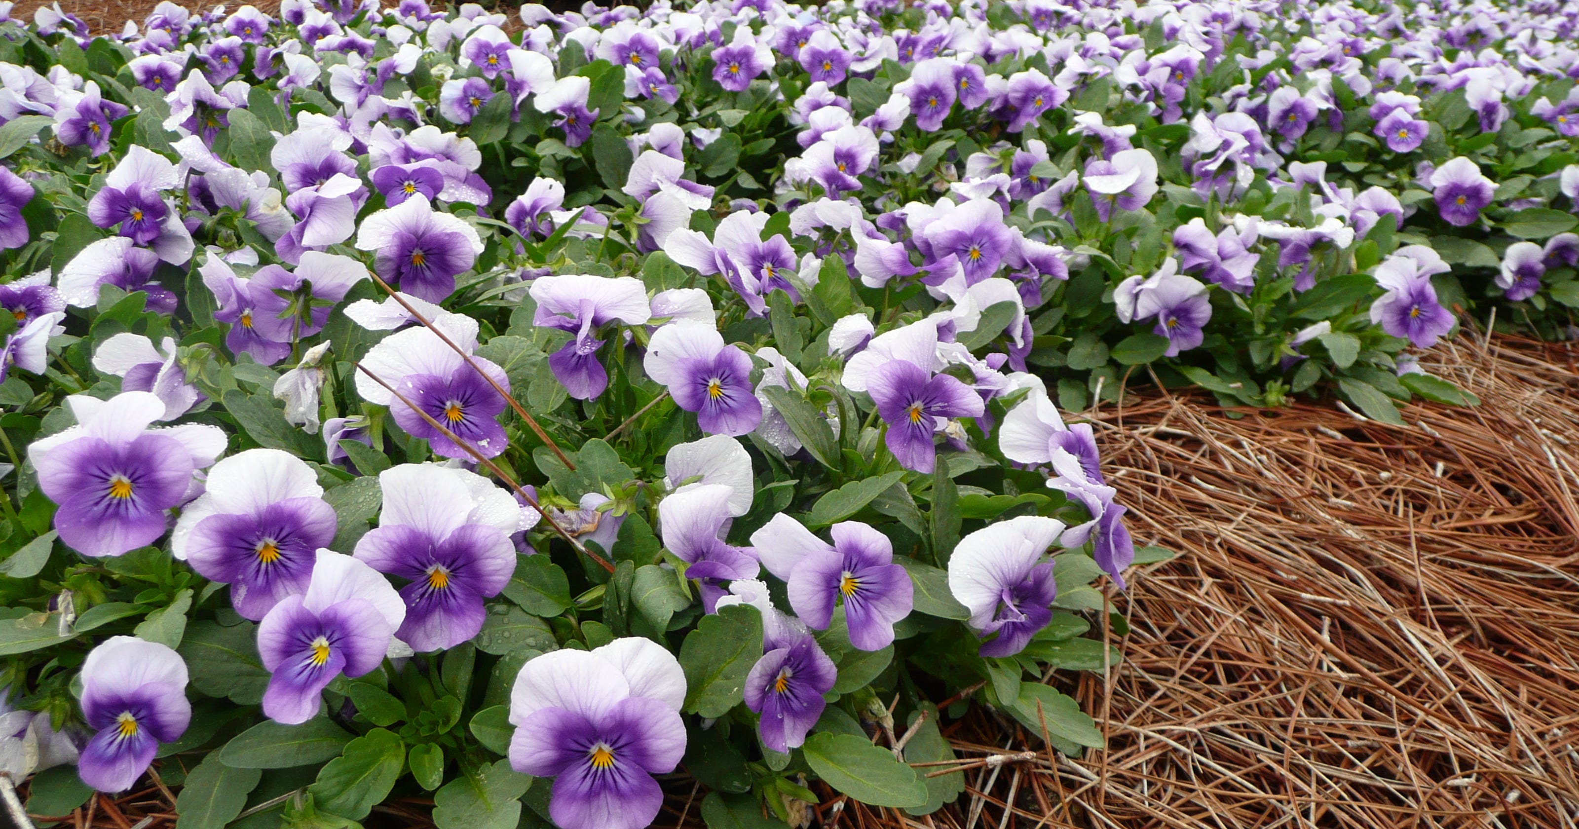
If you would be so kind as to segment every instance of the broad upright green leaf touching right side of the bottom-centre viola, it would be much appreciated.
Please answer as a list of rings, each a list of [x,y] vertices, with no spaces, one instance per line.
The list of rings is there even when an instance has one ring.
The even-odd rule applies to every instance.
[[[685,711],[723,717],[741,700],[745,674],[763,655],[763,617],[748,605],[718,608],[703,616],[681,644],[685,670]]]

